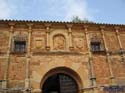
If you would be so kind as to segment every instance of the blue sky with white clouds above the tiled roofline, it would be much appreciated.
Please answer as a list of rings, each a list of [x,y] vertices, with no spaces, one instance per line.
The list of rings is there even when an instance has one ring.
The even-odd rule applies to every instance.
[[[0,0],[0,19],[125,24],[125,0]]]

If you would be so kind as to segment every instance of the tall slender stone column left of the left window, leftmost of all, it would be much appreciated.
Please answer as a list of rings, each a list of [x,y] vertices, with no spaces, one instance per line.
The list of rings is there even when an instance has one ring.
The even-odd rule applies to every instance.
[[[4,75],[4,82],[2,83],[2,88],[6,89],[7,88],[7,81],[8,81],[8,71],[9,71],[9,63],[10,63],[10,52],[11,52],[11,39],[12,39],[12,34],[14,32],[14,25],[15,23],[9,23],[10,26],[10,31],[9,31],[9,43],[8,43],[8,51],[7,51],[7,61],[5,64],[5,75]]]

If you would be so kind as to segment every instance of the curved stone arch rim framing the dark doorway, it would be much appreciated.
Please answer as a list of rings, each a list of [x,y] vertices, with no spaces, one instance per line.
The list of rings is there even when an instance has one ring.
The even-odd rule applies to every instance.
[[[40,83],[40,89],[41,89],[42,93],[45,92],[44,91],[45,82],[47,82],[48,79],[51,78],[51,77],[54,78],[54,76],[58,78],[57,81],[56,81],[56,82],[58,82],[58,80],[60,80],[59,79],[60,75],[68,77],[69,79],[72,80],[72,82],[75,83],[76,90],[77,90],[77,92],[75,92],[75,93],[82,92],[83,83],[82,83],[82,80],[81,80],[79,74],[76,71],[74,71],[73,69],[69,68],[69,67],[63,67],[62,66],[62,67],[52,68],[52,69],[48,70],[44,74],[44,76],[43,76],[43,78],[41,80],[41,83]],[[58,90],[58,91],[60,92],[60,90]]]

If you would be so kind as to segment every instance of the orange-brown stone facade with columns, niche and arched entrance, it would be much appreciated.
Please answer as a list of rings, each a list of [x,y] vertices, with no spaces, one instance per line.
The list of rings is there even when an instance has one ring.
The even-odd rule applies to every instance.
[[[25,41],[25,52],[14,51],[15,40]],[[0,92],[42,93],[50,75],[65,73],[78,93],[109,93],[125,85],[124,50],[125,25],[1,20]]]

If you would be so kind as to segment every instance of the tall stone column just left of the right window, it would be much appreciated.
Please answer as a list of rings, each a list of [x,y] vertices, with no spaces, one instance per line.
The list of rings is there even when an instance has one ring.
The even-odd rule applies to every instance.
[[[88,52],[89,52],[89,67],[90,67],[91,86],[96,87],[96,78],[95,78],[93,62],[92,62],[92,53],[91,53],[90,38],[89,38],[89,33],[88,33],[88,26],[84,26],[84,29],[85,29]],[[95,89],[94,89],[94,93],[97,93],[97,91],[95,92]]]

